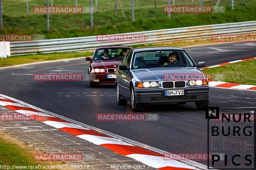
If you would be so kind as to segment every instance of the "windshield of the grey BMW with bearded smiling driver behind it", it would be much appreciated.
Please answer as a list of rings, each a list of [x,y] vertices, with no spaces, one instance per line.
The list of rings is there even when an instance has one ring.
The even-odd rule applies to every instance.
[[[196,67],[196,65],[188,54],[181,50],[137,52],[132,69],[150,67]]]

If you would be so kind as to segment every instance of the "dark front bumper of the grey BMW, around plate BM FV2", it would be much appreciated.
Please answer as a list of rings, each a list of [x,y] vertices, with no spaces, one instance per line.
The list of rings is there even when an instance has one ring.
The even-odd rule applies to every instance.
[[[165,90],[184,90],[184,95],[165,96]],[[209,99],[209,86],[185,89],[134,89],[136,103],[204,102]]]

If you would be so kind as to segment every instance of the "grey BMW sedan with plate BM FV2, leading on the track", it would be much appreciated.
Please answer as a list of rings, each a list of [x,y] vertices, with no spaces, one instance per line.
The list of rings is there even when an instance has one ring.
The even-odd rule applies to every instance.
[[[195,102],[198,110],[209,105],[209,85],[203,72],[182,48],[130,49],[116,71],[118,105],[131,102],[134,112],[152,103]]]

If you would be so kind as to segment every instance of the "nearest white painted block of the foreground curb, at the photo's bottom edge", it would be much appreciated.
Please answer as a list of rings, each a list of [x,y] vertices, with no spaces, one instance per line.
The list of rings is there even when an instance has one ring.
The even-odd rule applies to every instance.
[[[130,155],[126,155],[129,158],[138,160],[143,164],[148,166],[152,166],[154,168],[162,168],[166,166],[177,167],[177,168],[188,168],[188,169],[197,169],[196,167],[186,165],[182,162],[176,160],[164,160],[162,156],[153,156],[153,155],[144,155],[133,153]]]

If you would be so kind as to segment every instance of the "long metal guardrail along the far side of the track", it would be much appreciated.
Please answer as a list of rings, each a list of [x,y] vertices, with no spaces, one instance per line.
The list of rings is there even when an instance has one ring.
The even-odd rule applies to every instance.
[[[38,53],[58,53],[58,52],[72,52],[72,51],[86,51],[95,49],[98,46],[107,45],[138,45],[138,44],[152,44],[180,40],[195,40],[195,39],[209,39],[212,35],[218,34],[255,34],[256,21],[214,24],[204,26],[191,26],[183,28],[162,29],[154,31],[143,31],[134,33],[122,33],[122,35],[130,34],[144,34],[146,41],[131,42],[131,41],[115,41],[104,42],[97,41],[96,36],[77,37],[77,38],[62,38],[38,41],[19,41],[11,42],[11,56],[27,55]],[[120,35],[120,34],[112,34]],[[154,37],[150,40],[149,37]]]

